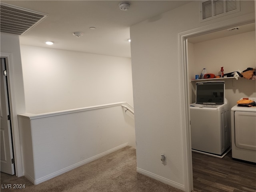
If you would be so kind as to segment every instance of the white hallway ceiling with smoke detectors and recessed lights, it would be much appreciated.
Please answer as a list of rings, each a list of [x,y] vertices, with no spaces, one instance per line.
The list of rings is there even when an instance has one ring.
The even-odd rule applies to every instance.
[[[1,0],[48,17],[20,36],[20,44],[50,47],[110,56],[131,57],[130,26],[191,2],[190,0],[129,0],[122,11],[122,0]],[[95,27],[91,30],[90,27]],[[76,38],[73,32],[83,32]],[[54,41],[52,46],[46,40]]]

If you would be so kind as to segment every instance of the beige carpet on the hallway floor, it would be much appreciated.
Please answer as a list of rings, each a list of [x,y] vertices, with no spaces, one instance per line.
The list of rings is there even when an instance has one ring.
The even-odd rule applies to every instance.
[[[25,184],[25,189],[3,189]],[[136,149],[130,146],[33,185],[24,176],[1,172],[1,192],[182,192],[136,172]]]

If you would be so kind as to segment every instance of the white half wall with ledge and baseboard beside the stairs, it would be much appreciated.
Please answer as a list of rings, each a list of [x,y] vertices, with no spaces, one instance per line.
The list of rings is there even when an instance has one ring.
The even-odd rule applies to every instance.
[[[19,115],[26,178],[39,184],[122,147],[135,147],[134,115],[121,104]]]

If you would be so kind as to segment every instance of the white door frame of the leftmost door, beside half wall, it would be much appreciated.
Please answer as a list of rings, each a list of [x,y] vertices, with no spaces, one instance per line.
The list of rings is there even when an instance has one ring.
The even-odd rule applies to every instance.
[[[16,112],[16,102],[15,102],[15,85],[13,81],[13,71],[14,62],[13,56],[10,53],[0,53],[1,58],[6,58],[6,70],[7,70],[7,80],[8,80],[8,91],[9,91],[9,102],[10,102],[10,115],[12,124],[12,139],[13,139],[13,150],[14,150],[14,162],[15,162],[15,173],[17,177],[23,176],[23,166],[22,166],[22,153],[20,147],[20,133],[18,127],[18,117]]]

